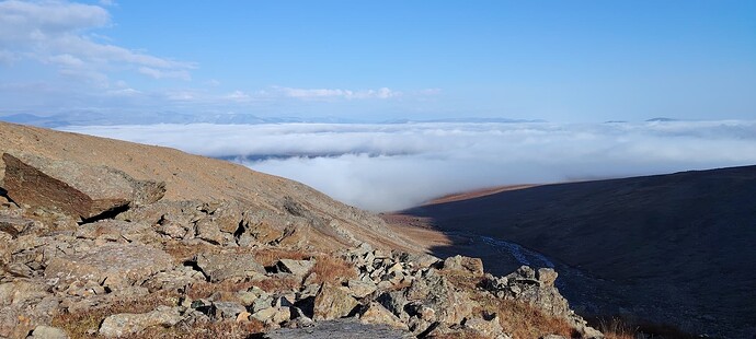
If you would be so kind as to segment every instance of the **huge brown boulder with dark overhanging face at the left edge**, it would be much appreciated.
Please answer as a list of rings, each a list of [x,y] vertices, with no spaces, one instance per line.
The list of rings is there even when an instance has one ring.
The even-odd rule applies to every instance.
[[[128,206],[150,203],[165,192],[164,183],[140,182],[105,166],[2,154],[4,188],[13,201],[90,219]]]

